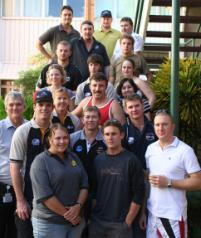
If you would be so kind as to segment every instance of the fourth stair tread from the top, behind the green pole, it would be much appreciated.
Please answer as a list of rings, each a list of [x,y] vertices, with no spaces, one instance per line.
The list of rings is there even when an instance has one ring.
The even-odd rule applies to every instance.
[[[145,51],[171,51],[171,45],[145,45]],[[199,46],[180,46],[180,51],[183,52],[201,52]]]

